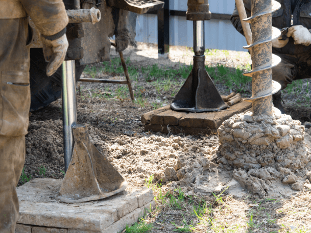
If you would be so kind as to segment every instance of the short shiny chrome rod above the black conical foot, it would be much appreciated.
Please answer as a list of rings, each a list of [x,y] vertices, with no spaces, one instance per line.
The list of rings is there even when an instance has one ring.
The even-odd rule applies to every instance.
[[[194,21],[195,56],[203,56],[205,51],[204,21]]]

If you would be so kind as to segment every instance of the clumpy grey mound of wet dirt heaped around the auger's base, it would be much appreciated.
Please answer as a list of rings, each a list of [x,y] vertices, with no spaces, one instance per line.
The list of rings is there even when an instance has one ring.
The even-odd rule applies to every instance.
[[[271,187],[289,184],[302,190],[310,176],[310,147],[304,126],[289,115],[237,114],[218,129],[221,163],[234,167],[233,177],[260,197]]]

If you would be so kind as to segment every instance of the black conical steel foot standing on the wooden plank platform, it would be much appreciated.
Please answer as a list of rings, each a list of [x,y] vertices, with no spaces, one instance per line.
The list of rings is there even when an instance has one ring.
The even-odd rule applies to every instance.
[[[204,56],[194,56],[194,68],[171,103],[173,110],[200,113],[228,107],[206,72],[204,61]]]

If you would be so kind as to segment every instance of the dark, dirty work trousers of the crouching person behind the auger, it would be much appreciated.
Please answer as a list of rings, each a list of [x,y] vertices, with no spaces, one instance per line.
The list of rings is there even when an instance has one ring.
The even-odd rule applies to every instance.
[[[272,79],[285,89],[293,80],[308,79],[311,77],[311,51],[299,55],[275,54],[282,61],[272,68]]]

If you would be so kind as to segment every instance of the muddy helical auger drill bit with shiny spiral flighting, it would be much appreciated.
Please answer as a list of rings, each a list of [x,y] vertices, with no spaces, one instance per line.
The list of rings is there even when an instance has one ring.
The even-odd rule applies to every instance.
[[[272,94],[278,92],[281,85],[272,81],[272,67],[281,59],[272,54],[272,40],[281,33],[272,27],[272,12],[281,5],[274,0],[252,0],[252,16],[243,19],[251,23],[252,44],[244,46],[250,49],[252,70],[244,73],[252,77],[252,97],[245,99],[252,102],[253,116],[258,114],[273,115]]]

